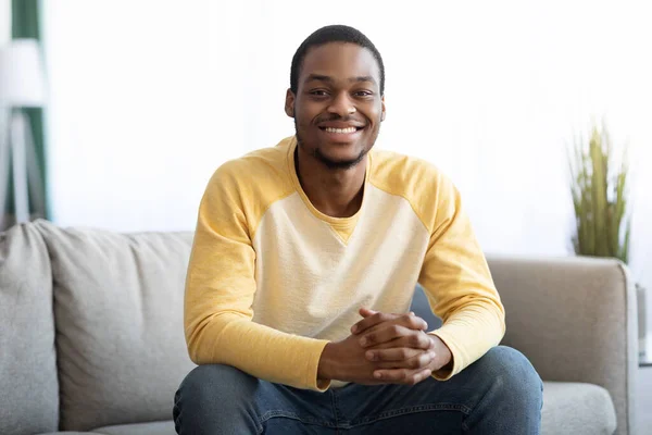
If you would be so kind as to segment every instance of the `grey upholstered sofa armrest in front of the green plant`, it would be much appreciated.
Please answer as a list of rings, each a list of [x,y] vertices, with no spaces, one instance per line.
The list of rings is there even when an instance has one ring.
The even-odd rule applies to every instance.
[[[506,312],[502,344],[522,351],[544,381],[606,388],[616,433],[632,433],[638,335],[627,268],[594,258],[488,261]]]

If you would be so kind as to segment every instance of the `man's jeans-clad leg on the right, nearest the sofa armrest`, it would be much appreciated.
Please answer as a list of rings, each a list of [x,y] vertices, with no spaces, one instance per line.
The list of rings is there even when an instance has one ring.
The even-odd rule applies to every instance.
[[[537,434],[542,384],[529,361],[497,347],[449,381],[350,384],[334,390],[340,427],[353,434]],[[514,412],[527,413],[517,418]],[[497,432],[498,431],[498,432]]]

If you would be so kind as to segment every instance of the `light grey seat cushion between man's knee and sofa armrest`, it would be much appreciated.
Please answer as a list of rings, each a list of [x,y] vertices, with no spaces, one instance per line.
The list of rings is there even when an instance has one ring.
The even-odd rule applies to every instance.
[[[598,385],[543,383],[543,435],[612,435],[616,411],[609,391]]]

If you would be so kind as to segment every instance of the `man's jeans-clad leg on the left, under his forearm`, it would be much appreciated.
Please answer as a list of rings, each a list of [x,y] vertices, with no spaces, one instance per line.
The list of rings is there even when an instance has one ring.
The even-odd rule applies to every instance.
[[[179,434],[335,434],[331,394],[291,388],[222,364],[192,370],[175,395]]]

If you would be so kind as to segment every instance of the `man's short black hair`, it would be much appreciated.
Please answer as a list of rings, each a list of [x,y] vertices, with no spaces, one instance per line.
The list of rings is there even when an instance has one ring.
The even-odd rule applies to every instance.
[[[385,95],[385,64],[383,63],[380,52],[362,32],[344,25],[322,27],[301,42],[292,57],[292,66],[290,67],[290,90],[292,92],[297,94],[297,89],[299,88],[299,74],[301,73],[301,66],[308,51],[312,47],[323,46],[328,42],[351,42],[369,50],[376,62],[378,62],[378,70],[380,70],[380,95]]]

